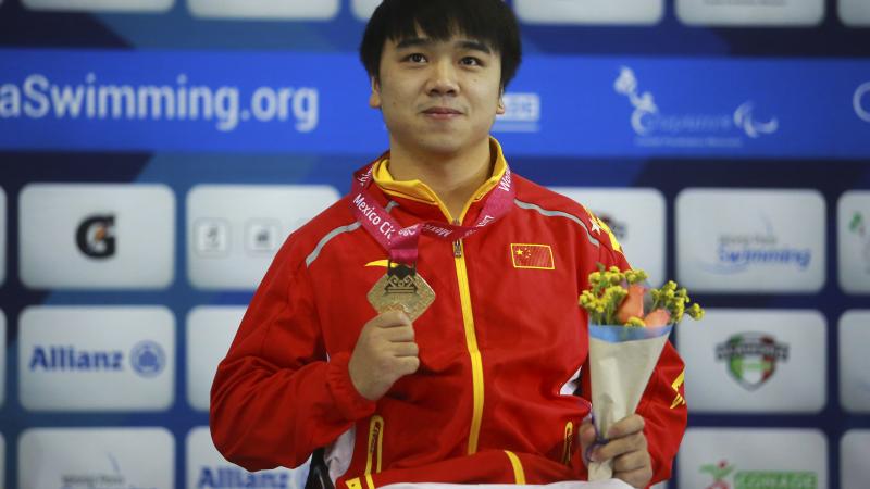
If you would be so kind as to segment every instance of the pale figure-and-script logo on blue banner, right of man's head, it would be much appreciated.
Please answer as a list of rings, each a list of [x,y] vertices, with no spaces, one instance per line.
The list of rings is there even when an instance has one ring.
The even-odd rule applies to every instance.
[[[622,66],[613,89],[625,96],[634,111],[631,126],[638,146],[679,148],[738,148],[745,139],[757,139],[779,130],[776,117],[759,120],[755,103],[746,101],[733,113],[668,114],[656,104],[649,91],[638,89],[637,77],[631,67]]]

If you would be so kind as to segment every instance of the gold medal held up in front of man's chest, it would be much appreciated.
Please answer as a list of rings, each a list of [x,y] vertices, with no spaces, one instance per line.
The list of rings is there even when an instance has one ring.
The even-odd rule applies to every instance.
[[[399,264],[387,266],[387,273],[369,291],[369,302],[377,313],[403,311],[413,322],[435,301],[435,291],[417,269]]]

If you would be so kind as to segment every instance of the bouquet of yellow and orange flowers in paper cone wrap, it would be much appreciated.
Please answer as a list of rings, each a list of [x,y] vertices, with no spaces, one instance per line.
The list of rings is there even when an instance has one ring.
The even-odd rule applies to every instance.
[[[580,305],[589,316],[589,371],[593,423],[598,440],[610,426],[634,413],[673,325],[685,314],[700,319],[704,310],[689,304],[688,292],[668,281],[660,289],[646,284],[642,269],[616,266],[589,274],[589,290]],[[610,462],[589,464],[589,480],[612,476]]]

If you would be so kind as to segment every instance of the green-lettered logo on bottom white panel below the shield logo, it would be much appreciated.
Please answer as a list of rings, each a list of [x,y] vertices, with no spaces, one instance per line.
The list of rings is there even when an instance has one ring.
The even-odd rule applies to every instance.
[[[819,477],[806,471],[737,471],[728,461],[701,465],[701,474],[713,481],[707,489],[817,489]]]

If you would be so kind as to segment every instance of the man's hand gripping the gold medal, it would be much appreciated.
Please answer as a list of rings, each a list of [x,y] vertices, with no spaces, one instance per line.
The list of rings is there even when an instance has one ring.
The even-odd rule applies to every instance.
[[[417,372],[419,352],[411,319],[387,311],[362,327],[348,364],[350,380],[363,398],[376,401],[396,380]]]

